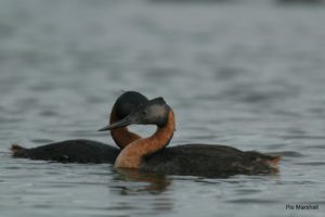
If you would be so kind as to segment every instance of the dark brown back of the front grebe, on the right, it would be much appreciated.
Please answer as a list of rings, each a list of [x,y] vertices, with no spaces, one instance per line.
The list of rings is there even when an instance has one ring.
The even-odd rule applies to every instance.
[[[231,176],[265,174],[278,156],[243,152],[232,146],[214,144],[183,144],[166,148],[145,157],[141,169],[173,175]],[[276,162],[277,163],[277,162]]]

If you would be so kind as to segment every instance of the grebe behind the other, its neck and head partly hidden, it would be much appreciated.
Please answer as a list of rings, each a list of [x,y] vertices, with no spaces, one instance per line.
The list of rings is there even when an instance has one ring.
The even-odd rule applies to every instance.
[[[122,93],[115,102],[109,123],[117,122],[142,103],[146,97],[135,91]],[[141,139],[140,136],[128,130],[127,127],[110,131],[116,144],[123,149],[132,141]],[[120,150],[92,140],[77,139],[54,142],[42,146],[25,149],[17,144],[11,146],[13,157],[44,159],[62,163],[114,163]]]

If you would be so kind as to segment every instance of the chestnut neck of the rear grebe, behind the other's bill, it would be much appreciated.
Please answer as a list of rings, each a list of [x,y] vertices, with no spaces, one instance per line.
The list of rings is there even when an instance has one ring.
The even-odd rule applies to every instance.
[[[109,117],[109,124],[113,124],[115,122],[119,120],[119,118],[116,115],[116,110],[113,107],[110,117]],[[110,130],[110,135],[115,143],[122,150],[131,142],[141,139],[141,137],[134,132],[131,132],[128,130],[128,127],[120,127],[116,129]]]

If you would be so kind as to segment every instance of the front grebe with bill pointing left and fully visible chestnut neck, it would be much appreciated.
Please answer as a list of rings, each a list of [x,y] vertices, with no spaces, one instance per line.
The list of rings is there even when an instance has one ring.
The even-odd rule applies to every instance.
[[[157,131],[130,143],[118,155],[115,167],[141,171],[192,175],[231,176],[236,174],[269,174],[277,171],[281,156],[214,144],[182,144],[166,148],[174,131],[174,113],[162,98],[140,105],[123,119],[101,130],[128,125],[156,125]],[[165,148],[165,149],[164,149]]]

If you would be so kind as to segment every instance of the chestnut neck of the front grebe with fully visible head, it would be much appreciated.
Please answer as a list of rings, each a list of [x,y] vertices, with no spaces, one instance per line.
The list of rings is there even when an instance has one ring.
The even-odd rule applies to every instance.
[[[123,149],[116,162],[117,168],[139,169],[144,156],[154,154],[169,144],[174,131],[174,114],[170,110],[166,126],[158,127],[157,131],[145,139],[139,139]]]

